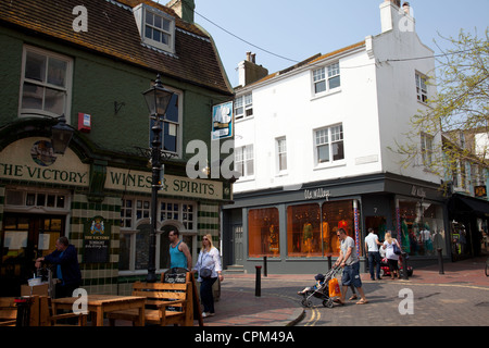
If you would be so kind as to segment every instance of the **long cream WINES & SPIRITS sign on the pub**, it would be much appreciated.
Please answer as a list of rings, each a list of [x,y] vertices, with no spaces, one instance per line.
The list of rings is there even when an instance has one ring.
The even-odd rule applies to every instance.
[[[151,182],[152,176],[148,172],[106,169],[105,189],[151,192]],[[165,174],[159,192],[190,198],[223,199],[223,183]]]

